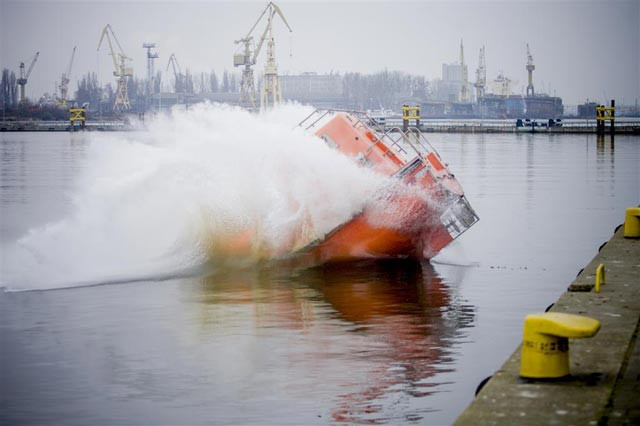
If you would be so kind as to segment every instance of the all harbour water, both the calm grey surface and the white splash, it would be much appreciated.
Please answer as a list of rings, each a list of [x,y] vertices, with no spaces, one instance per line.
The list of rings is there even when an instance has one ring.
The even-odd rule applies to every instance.
[[[384,182],[285,121],[0,133],[0,424],[451,423],[640,201],[638,136],[430,134],[480,222],[431,261],[296,265],[264,247]]]

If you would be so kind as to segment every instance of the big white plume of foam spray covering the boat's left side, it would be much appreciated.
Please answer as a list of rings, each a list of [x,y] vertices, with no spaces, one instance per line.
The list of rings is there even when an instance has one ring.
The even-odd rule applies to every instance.
[[[91,135],[73,213],[20,238],[1,285],[160,279],[321,238],[387,179],[295,128],[310,111],[201,104],[152,120],[148,131]]]

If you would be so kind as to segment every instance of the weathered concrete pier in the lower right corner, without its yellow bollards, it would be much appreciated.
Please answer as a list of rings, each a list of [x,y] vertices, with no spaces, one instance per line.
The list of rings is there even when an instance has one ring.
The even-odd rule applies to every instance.
[[[623,231],[615,232],[550,309],[601,322],[595,337],[570,340],[571,375],[557,381],[520,378],[518,347],[456,425],[640,424],[640,239],[624,238]],[[595,293],[600,264],[606,280]]]

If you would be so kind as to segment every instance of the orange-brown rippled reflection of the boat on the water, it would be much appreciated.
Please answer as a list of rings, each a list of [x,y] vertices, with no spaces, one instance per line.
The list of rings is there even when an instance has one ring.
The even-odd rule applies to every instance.
[[[451,342],[474,320],[473,308],[461,303],[428,263],[415,261],[376,260],[303,270],[272,266],[224,279],[209,277],[201,290],[199,298],[207,305],[244,309],[245,314],[227,316],[226,327],[236,326],[242,315],[243,320],[252,316],[245,327],[267,339],[261,345],[275,344],[261,330],[295,332],[299,338],[292,341],[300,346],[278,350],[294,377],[311,375],[321,381],[318,387],[332,389],[319,397],[330,398],[331,416],[337,422],[389,420],[389,399],[432,393],[437,383],[429,379],[449,371]],[[224,321],[215,323],[225,327]],[[289,387],[314,397],[314,390],[305,386],[306,382]],[[413,420],[428,409],[418,411]]]

